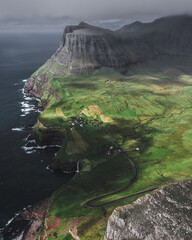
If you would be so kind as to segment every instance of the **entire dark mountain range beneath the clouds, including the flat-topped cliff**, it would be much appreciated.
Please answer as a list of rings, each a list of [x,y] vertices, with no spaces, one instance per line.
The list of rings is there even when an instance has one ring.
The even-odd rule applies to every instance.
[[[84,22],[68,26],[50,64],[71,71],[111,67],[127,72],[132,64],[160,55],[192,56],[192,17],[174,16],[152,23],[135,22],[117,31]]]

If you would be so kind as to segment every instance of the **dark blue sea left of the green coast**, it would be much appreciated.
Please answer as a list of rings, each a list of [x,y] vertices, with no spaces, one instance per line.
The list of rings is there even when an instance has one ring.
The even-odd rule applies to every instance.
[[[23,80],[55,52],[60,36],[0,34],[0,228],[16,212],[49,196],[69,179],[46,169],[58,149],[26,153],[22,146],[32,129],[12,130],[36,122],[36,101],[24,99]]]

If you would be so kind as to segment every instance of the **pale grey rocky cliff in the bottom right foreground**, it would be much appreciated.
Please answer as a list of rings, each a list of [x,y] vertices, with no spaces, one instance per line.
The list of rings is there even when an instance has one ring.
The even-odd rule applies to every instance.
[[[161,187],[114,210],[105,240],[192,239],[192,182]]]

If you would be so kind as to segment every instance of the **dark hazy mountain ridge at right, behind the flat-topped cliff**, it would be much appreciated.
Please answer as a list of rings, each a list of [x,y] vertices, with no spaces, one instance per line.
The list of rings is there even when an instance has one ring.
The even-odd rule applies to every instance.
[[[192,56],[192,17],[172,16],[152,23],[135,22],[117,31],[125,39],[140,39],[150,46],[157,55]],[[150,55],[152,55],[150,53]]]

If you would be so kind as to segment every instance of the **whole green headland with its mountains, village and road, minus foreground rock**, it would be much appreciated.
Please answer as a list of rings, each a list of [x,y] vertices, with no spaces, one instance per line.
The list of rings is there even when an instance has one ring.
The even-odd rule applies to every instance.
[[[188,16],[174,17],[176,25],[159,19],[142,34],[141,23],[116,32],[69,26],[28,80],[25,93],[44,108],[33,137],[61,145],[50,168],[77,172],[51,197],[39,236],[102,239],[116,207],[192,178],[192,38],[183,19],[191,24]]]

